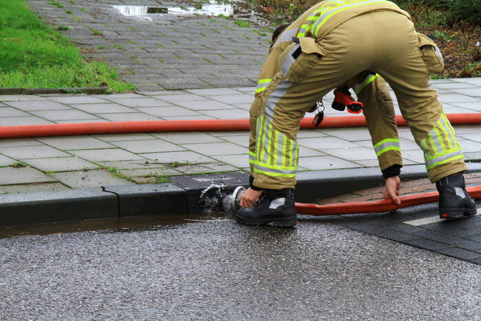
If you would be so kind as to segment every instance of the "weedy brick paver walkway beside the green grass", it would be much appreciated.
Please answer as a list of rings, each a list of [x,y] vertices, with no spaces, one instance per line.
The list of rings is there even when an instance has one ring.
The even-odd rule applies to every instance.
[[[154,0],[27,0],[85,58],[118,67],[139,90],[246,87],[257,82],[270,32],[212,16],[125,16],[116,6],[177,7]],[[212,1],[214,2],[214,1]],[[72,4],[74,3],[74,4]],[[205,4],[204,4],[205,5]],[[183,7],[182,7],[183,8]],[[147,20],[148,19],[151,20]]]

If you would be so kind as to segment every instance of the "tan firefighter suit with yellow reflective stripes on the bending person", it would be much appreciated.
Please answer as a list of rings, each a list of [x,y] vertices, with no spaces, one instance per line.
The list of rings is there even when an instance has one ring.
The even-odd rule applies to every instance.
[[[364,103],[381,170],[402,165],[394,107],[383,79],[396,93],[403,118],[424,151],[429,179],[466,170],[453,128],[429,84],[429,73],[444,67],[436,50],[434,42],[414,30],[409,14],[392,2],[314,5],[277,38],[259,76],[250,107],[253,184],[294,188],[300,120],[319,98],[350,79]]]

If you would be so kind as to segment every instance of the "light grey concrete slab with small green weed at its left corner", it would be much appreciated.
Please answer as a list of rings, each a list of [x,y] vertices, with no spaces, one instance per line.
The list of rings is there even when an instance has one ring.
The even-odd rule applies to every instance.
[[[87,162],[78,157],[54,157],[24,159],[24,162],[43,170],[44,172],[65,172],[69,170],[86,170],[98,168],[96,164]]]

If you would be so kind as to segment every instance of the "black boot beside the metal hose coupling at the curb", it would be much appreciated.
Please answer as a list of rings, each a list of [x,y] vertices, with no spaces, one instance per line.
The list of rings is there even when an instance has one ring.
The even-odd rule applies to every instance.
[[[235,214],[238,223],[290,227],[297,224],[294,190],[264,190],[253,208],[240,208]]]

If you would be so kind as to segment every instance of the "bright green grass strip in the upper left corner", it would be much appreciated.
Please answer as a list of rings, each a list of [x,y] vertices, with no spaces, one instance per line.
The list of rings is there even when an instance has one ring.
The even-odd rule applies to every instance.
[[[23,0],[0,1],[0,87],[135,89],[105,63],[87,63],[78,48],[40,21]]]

